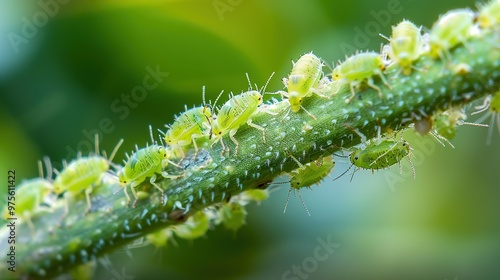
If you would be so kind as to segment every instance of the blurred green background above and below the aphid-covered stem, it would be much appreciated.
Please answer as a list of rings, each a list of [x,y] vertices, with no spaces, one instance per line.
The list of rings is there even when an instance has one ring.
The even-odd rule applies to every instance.
[[[107,151],[125,139],[121,161],[148,141],[149,124],[162,128],[184,104],[200,104],[202,86],[213,100],[221,90],[246,90],[245,73],[262,86],[276,72],[268,90],[282,89],[291,60],[306,52],[331,66],[354,49],[379,50],[384,40],[376,34],[390,35],[403,18],[430,28],[449,9],[475,7],[465,0],[41,2],[57,4],[0,0],[3,194],[8,169],[35,177],[43,156],[60,167],[75,150],[88,152],[86,134],[96,130]],[[33,20],[35,29],[27,23]],[[148,67],[168,76],[126,101],[141,93]],[[136,279],[498,278],[500,136],[495,131],[486,146],[487,130],[461,127],[455,149],[408,132],[416,180],[405,161],[403,175],[393,167],[357,172],[351,183],[327,178],[302,191],[311,217],[294,196],[283,214],[288,186],[281,185],[248,207],[236,237],[219,227],[164,250],[131,249],[133,260],[118,251],[113,270],[126,268]],[[332,176],[348,166],[339,159]],[[340,247],[313,261],[318,238]],[[302,264],[304,274],[286,274]],[[113,277],[98,266],[96,278]]]

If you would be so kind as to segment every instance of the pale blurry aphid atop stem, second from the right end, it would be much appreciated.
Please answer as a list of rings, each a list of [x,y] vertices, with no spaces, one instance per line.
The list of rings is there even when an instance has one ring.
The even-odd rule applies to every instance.
[[[474,13],[469,9],[452,10],[439,17],[429,34],[430,55],[449,57],[450,49],[469,38],[473,21]]]

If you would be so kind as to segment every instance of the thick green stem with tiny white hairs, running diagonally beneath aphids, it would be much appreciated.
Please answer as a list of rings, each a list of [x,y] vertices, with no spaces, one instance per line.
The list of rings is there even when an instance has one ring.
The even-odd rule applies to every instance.
[[[391,89],[377,80],[383,98],[368,88],[346,104],[345,99],[350,96],[348,85],[337,93],[334,89],[326,90],[324,93],[331,95],[328,100],[308,97],[303,106],[316,119],[303,110],[285,117],[287,101],[277,105],[284,108],[277,116],[259,112],[252,119],[265,127],[266,143],[259,130],[243,125],[235,135],[238,156],[234,156],[234,144],[228,137],[223,139],[230,154],[222,156],[219,143],[203,148],[196,160],[183,161],[184,177],[158,180],[168,197],[165,205],[160,204],[159,192],[144,183],[141,188],[149,191],[150,197],[140,200],[136,208],[127,207],[123,193],[113,195],[119,189],[113,183],[116,179],[106,177],[92,194],[89,214],[83,215],[86,203],[82,197],[70,204],[71,211],[62,223],[61,204],[55,211],[33,219],[33,237],[25,223],[18,225],[15,275],[58,275],[136,238],[181,223],[196,211],[242,191],[266,187],[278,175],[297,168],[289,155],[305,164],[359,144],[361,139],[355,130],[370,139],[378,131],[407,127],[418,116],[431,116],[484,97],[500,83],[499,46],[499,34],[484,31],[481,37],[471,38],[467,48],[452,50],[449,61],[421,57],[416,65],[420,70],[409,76],[397,71],[386,74]],[[179,173],[176,167],[168,169]],[[3,226],[2,240],[8,234],[8,228]],[[8,252],[7,242],[0,246],[2,252]],[[0,265],[5,266],[5,260]],[[5,274],[7,268],[1,269]]]

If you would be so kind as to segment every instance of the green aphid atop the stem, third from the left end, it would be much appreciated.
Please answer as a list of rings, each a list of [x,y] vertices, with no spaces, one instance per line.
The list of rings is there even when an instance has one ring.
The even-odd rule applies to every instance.
[[[151,134],[151,141],[153,140],[153,133],[151,126],[149,127]],[[170,161],[171,151],[164,146],[153,144],[147,146],[146,148],[138,149],[136,146],[136,152],[130,157],[127,155],[127,161],[124,161],[123,168],[118,172],[118,179],[120,180],[120,185],[125,188],[125,196],[127,197],[127,205],[130,203],[130,196],[127,193],[127,186],[130,186],[132,194],[134,195],[133,207],[135,207],[139,197],[135,191],[135,187],[149,179],[149,183],[153,185],[156,189],[161,192],[161,203],[164,203],[164,191],[160,186],[158,186],[156,181],[156,174],[161,174],[163,177],[168,179],[179,178],[180,176],[169,175],[166,171],[162,169],[165,168],[168,163],[175,165],[180,168],[177,164]],[[182,175],[181,175],[182,176]]]

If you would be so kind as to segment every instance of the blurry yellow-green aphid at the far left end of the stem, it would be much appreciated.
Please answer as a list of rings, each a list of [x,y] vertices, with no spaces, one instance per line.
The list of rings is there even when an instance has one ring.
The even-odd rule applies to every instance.
[[[47,165],[47,177],[44,178],[42,162],[38,161],[40,177],[21,182],[17,186],[15,206],[12,207],[7,204],[3,210],[5,219],[17,216],[25,220],[32,234],[35,231],[32,218],[42,210],[40,206],[44,202],[44,198],[52,191],[52,168],[49,160],[45,160],[45,163]]]

